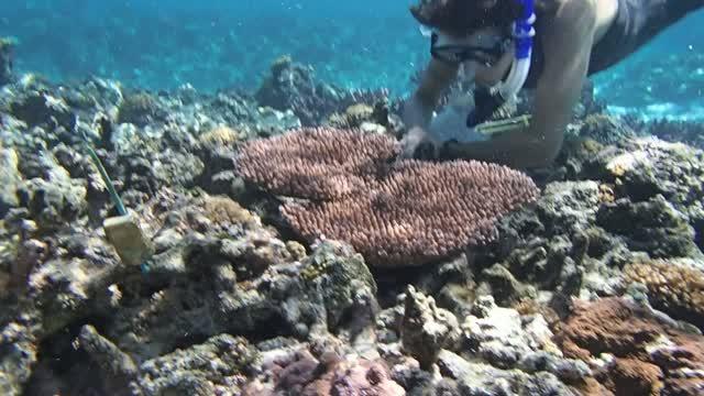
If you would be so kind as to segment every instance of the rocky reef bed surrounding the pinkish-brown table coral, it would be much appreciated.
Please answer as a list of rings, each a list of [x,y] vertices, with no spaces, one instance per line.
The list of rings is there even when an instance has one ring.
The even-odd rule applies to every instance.
[[[402,130],[376,94],[288,85],[305,70],[282,59],[255,95],[29,75],[0,91],[0,393],[704,392],[702,151],[582,114],[492,243],[380,268],[297,240],[233,170],[244,142],[301,124]],[[147,271],[108,243],[84,136]]]

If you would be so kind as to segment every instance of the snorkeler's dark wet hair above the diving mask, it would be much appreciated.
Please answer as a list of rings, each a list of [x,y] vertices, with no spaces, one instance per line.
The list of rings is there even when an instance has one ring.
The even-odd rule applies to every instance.
[[[410,7],[421,24],[458,36],[483,28],[508,26],[520,12],[516,0],[420,0]]]

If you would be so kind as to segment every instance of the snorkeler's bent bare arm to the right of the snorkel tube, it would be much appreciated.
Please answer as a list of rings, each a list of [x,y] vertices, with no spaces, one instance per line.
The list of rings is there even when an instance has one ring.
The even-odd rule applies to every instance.
[[[594,37],[593,3],[571,0],[544,26],[543,47],[549,48],[536,89],[530,127],[486,142],[447,144],[443,155],[474,158],[515,167],[548,166],[562,145],[564,128],[580,98]]]

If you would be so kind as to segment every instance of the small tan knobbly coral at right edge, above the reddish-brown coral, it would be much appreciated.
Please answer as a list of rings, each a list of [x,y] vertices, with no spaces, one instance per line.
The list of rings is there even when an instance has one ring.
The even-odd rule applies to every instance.
[[[704,273],[666,261],[631,263],[626,279],[646,285],[656,308],[704,329]]]

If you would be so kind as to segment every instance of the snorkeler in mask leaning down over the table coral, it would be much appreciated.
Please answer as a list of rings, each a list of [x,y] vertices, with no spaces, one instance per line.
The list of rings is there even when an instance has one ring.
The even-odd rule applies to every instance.
[[[704,0],[420,0],[410,11],[432,30],[432,57],[404,107],[408,133],[400,157],[431,143],[447,158],[548,166],[585,78],[702,7]],[[521,88],[535,88],[529,127],[440,145],[428,131],[441,95],[458,76],[479,87],[464,122],[470,130]]]

